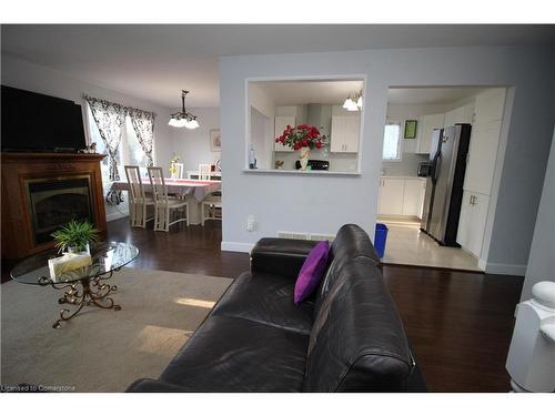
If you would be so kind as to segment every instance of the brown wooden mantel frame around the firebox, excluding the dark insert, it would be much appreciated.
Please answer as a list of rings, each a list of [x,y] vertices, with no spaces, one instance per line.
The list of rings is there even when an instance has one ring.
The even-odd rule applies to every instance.
[[[23,258],[53,247],[53,242],[34,243],[27,190],[27,183],[32,180],[89,177],[94,225],[105,235],[107,221],[100,170],[100,161],[104,158],[104,154],[84,153],[2,153],[2,258]]]

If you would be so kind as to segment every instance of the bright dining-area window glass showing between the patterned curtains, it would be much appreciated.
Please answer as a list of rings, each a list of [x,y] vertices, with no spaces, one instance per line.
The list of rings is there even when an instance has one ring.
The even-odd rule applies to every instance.
[[[97,142],[97,152],[108,154],[104,142],[100,135],[99,128],[92,116],[92,112],[89,105],[87,105],[87,116],[89,120],[89,135],[91,142]],[[121,134],[121,142],[118,148],[118,172],[120,173],[120,179],[125,179],[125,164],[138,165],[141,168],[141,175],[147,177],[147,155],[139,144],[139,139],[137,139],[137,133],[131,123],[131,118],[125,115],[125,124],[123,126],[123,132]],[[110,191],[110,168],[109,159],[102,159],[100,163],[100,169],[102,171],[102,187],[104,195]]]

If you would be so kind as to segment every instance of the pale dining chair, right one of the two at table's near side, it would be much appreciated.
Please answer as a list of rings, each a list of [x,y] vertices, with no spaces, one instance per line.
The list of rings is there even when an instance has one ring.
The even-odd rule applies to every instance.
[[[148,168],[152,193],[154,195],[154,231],[170,231],[170,225],[185,221],[189,225],[189,204],[185,200],[168,196],[162,168]],[[171,221],[173,212],[184,213],[184,216]]]

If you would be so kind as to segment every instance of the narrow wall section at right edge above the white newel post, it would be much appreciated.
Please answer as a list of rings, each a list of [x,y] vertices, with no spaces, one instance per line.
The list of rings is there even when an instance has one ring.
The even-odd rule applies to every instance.
[[[532,286],[542,281],[555,282],[555,131],[521,302],[529,300]]]

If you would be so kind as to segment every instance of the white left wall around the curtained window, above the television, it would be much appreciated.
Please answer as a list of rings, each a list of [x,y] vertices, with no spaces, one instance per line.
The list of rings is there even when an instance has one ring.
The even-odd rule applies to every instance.
[[[157,113],[154,124],[154,163],[168,164],[171,158],[168,144],[171,143],[168,118],[170,110],[163,106],[122,94],[118,91],[109,90],[100,85],[94,85],[67,75],[54,69],[37,65],[21,59],[2,53],[2,84],[20,88],[22,90],[34,91],[48,95],[60,97],[72,100],[77,104],[83,104],[83,93],[92,97],[114,101],[124,105],[134,106],[141,110]],[[87,130],[87,116],[83,109],[83,120]],[[88,132],[87,132],[88,134]],[[129,213],[127,203],[119,206],[105,206],[108,220],[114,220]]]

